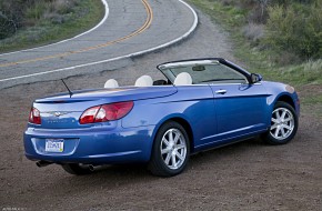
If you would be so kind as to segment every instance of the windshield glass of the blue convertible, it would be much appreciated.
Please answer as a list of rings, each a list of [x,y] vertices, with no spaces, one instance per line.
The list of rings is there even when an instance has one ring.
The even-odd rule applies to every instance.
[[[208,64],[169,64],[161,70],[163,74],[173,83],[175,77],[181,72],[188,72],[193,84],[202,83],[246,83],[245,76],[221,63]]]

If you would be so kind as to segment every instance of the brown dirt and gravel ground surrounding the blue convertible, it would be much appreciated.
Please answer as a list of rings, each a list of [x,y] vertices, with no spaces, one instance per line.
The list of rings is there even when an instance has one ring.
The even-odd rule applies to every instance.
[[[102,87],[109,78],[131,84],[143,73],[161,77],[154,67],[169,60],[235,61],[227,34],[201,13],[200,18],[198,31],[177,47],[67,82],[72,89]],[[39,169],[23,154],[31,102],[59,91],[66,91],[60,81],[0,90],[0,210],[322,210],[322,124],[311,109],[302,112],[298,134],[289,144],[249,140],[203,152],[193,155],[178,177],[153,177],[143,164],[74,177],[59,165]]]

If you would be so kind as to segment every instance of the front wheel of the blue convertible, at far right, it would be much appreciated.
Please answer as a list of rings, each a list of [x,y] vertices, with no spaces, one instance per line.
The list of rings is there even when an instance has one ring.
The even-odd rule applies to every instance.
[[[269,144],[285,144],[291,141],[299,128],[299,118],[293,109],[286,102],[276,102],[274,105],[271,127],[263,135],[263,140]]]

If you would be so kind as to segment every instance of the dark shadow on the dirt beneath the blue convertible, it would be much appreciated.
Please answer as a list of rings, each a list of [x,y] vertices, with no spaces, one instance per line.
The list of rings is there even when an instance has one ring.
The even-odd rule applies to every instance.
[[[93,173],[87,175],[70,175],[63,172],[60,173],[61,177],[51,180],[52,189],[57,191],[66,192],[66,189],[58,189],[58,185],[70,187],[69,191],[80,191],[80,188],[85,188],[85,191],[95,191],[101,189],[122,189],[125,187],[133,187],[137,184],[151,184],[154,182],[162,182],[163,180],[175,182],[182,178],[189,178],[191,174],[199,171],[200,168],[208,168],[213,165],[213,163],[220,163],[223,160],[233,160],[238,157],[242,157],[245,153],[252,151],[258,151],[258,147],[264,145],[258,139],[250,139],[235,144],[227,145],[219,149],[209,150],[205,152],[200,152],[190,158],[187,170],[177,177],[172,178],[159,178],[152,175],[147,170],[147,164],[113,164],[113,165],[102,165],[98,168]],[[81,189],[83,190],[83,189]]]

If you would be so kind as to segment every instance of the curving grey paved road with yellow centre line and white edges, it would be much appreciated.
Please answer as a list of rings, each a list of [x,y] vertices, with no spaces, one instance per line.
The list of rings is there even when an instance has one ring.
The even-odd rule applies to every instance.
[[[0,89],[119,68],[121,59],[179,41],[195,13],[178,0],[108,0],[108,18],[69,41],[0,54]]]

